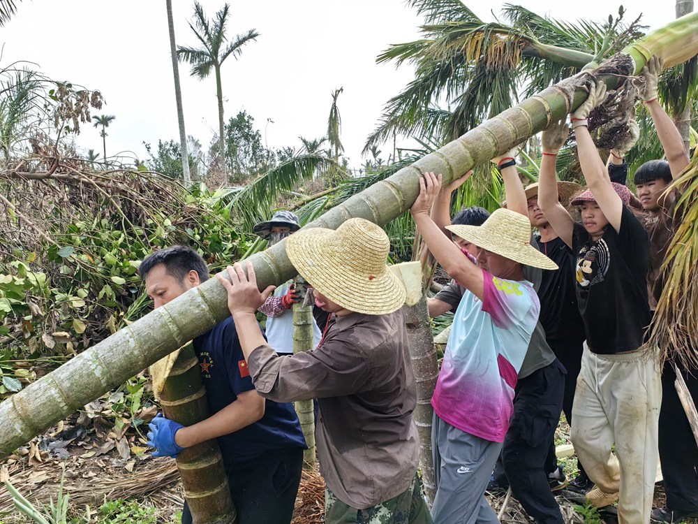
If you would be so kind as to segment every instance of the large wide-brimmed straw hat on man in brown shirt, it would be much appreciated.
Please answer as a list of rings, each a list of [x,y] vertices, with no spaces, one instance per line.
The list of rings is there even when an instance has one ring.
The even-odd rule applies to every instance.
[[[385,265],[389,249],[385,231],[360,218],[336,231],[302,229],[286,239],[288,258],[309,284],[347,310],[373,315],[405,303],[405,287]]]

